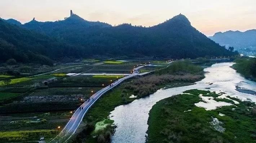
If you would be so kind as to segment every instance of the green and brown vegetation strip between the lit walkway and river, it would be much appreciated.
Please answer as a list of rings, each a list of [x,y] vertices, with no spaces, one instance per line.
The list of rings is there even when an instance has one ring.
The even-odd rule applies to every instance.
[[[107,128],[101,132],[93,132],[97,124],[109,120],[109,115],[115,107],[134,101],[135,99],[149,96],[165,86],[177,87],[187,83],[194,83],[204,78],[203,69],[191,64],[189,61],[174,62],[164,71],[142,78],[128,79],[119,87],[103,95],[88,111],[83,119],[84,128],[72,138],[73,143],[86,140],[87,143],[105,143],[110,141],[108,134],[113,133],[112,121],[106,123]],[[182,83],[182,84],[177,84]],[[131,95],[137,97],[130,98]],[[104,138],[104,139],[103,139]]]

